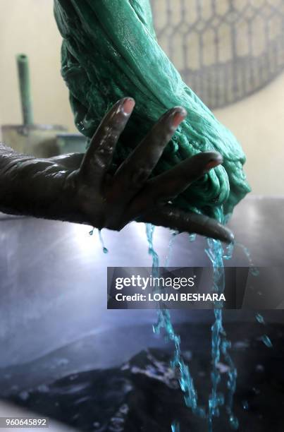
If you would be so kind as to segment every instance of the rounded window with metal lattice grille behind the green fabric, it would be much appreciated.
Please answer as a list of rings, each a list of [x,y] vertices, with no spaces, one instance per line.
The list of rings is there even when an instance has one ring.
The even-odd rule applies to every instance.
[[[211,109],[259,90],[284,66],[284,0],[152,0],[161,47]]]

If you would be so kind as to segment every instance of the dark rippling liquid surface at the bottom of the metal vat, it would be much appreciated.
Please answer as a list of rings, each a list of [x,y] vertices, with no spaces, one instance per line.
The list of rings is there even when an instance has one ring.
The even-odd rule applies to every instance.
[[[200,404],[206,404],[211,385],[208,326],[183,324],[177,330],[183,338],[183,355],[195,376]],[[231,354],[238,370],[234,409],[240,421],[239,431],[282,432],[284,326],[266,325],[273,348],[261,342],[263,328],[258,323],[228,323],[226,330],[233,343]],[[86,348],[84,342],[77,342],[73,347],[49,354],[48,359],[42,357],[13,370],[2,369],[1,388],[5,373],[10,374],[6,378],[8,399],[80,431],[166,432],[171,430],[175,419],[179,419],[181,431],[206,431],[206,422],[185,407],[177,377],[169,367],[170,344],[165,349],[139,352],[119,367],[83,372],[78,367],[75,371],[76,363],[82,363],[81,370],[87,367]],[[72,373],[68,371],[71,367]],[[226,365],[221,364],[220,369],[222,391],[226,385]],[[27,388],[27,376],[35,370],[41,371],[37,385]],[[65,376],[50,382],[51,370]],[[26,383],[20,388],[23,378]],[[214,431],[229,430],[225,409],[221,408],[221,416],[214,419]]]

